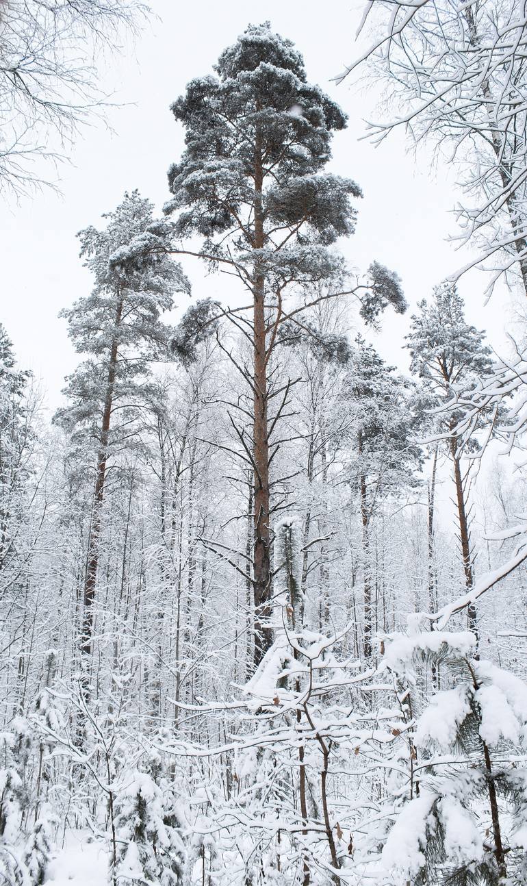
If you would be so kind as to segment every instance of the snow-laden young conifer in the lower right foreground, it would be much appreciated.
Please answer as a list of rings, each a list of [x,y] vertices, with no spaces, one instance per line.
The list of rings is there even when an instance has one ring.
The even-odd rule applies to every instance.
[[[399,806],[384,865],[401,882],[523,882],[525,683],[470,658],[470,633],[392,634],[384,645],[385,668],[415,684],[434,662],[446,687],[415,718],[415,796]]]

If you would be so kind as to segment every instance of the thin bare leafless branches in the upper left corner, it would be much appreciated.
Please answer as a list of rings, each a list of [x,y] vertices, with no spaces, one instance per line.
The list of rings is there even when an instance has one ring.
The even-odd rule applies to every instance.
[[[104,109],[97,56],[147,12],[141,0],[0,3],[0,193],[47,183],[40,160],[64,159],[79,126]]]

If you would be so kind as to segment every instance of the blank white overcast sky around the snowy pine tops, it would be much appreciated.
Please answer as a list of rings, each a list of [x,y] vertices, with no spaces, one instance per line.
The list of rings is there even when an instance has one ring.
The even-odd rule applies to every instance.
[[[415,305],[468,260],[467,253],[455,252],[446,242],[456,231],[452,167],[432,172],[425,156],[416,163],[402,136],[378,148],[360,140],[363,120],[376,115],[376,94],[347,81],[340,86],[332,82],[357,52],[354,34],[361,0],[353,5],[342,0],[153,0],[152,5],[157,18],[135,47],[106,64],[103,83],[107,91],[114,89],[120,106],[107,115],[111,128],[99,122],[83,130],[72,164],[60,171],[62,196],[43,190],[19,205],[0,204],[0,321],[19,364],[42,379],[50,408],[58,405],[64,376],[80,359],[67,339],[66,322],[57,316],[61,307],[89,291],[76,231],[103,223],[100,215],[117,206],[125,190],[138,188],[160,209],[168,196],[167,167],[182,150],[182,130],[169,105],[192,77],[211,71],[221,50],[250,22],[270,19],[275,30],[297,43],[309,80],[318,82],[349,115],[349,127],[334,139],[332,169],[353,177],[364,191],[357,233],[345,244],[350,262],[366,270],[376,259],[397,270],[410,305]],[[204,280],[196,266],[191,276],[194,297],[204,291],[227,296],[221,276]],[[502,289],[484,307],[483,289],[484,278],[477,273],[461,284],[469,319],[489,330],[490,343],[503,350],[510,296]],[[180,304],[185,307],[186,297]],[[384,357],[401,367],[407,363],[400,350],[407,323],[408,317],[387,314],[377,341]]]

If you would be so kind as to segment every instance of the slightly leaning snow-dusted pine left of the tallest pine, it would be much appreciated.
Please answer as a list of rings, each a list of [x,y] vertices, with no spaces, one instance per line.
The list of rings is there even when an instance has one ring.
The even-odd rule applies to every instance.
[[[88,354],[67,379],[68,403],[55,416],[74,443],[85,447],[88,437],[89,459],[95,462],[81,626],[81,651],[88,655],[109,460],[130,445],[134,422],[151,395],[145,385],[149,365],[167,353],[169,332],[160,316],[172,307],[174,291],[188,288],[180,268],[164,254],[167,223],[155,221],[152,208],[133,191],[105,216],[104,230],[81,231],[81,256],[95,285],[61,312],[75,350]],[[157,252],[149,251],[152,246]]]

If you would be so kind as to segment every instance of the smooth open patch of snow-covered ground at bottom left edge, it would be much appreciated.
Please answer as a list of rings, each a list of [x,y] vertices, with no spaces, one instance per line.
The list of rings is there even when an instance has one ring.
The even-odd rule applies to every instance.
[[[105,886],[108,856],[105,843],[89,842],[84,832],[66,835],[64,849],[53,853],[45,882],[53,886]]]

